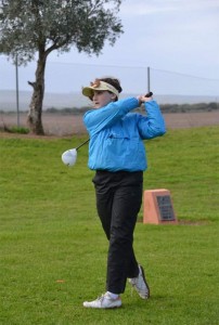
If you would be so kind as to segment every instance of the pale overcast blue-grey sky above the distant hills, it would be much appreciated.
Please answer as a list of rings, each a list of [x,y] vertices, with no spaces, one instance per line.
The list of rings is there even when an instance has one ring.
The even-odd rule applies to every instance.
[[[136,67],[133,78],[130,76],[132,80],[141,72],[145,74],[143,67],[147,66],[157,74],[159,70],[176,72],[198,77],[203,89],[209,87],[214,94],[219,94],[219,0],[124,0],[119,17],[125,32],[114,47],[106,42],[99,57],[79,54],[75,49],[60,56],[55,52],[50,54],[47,70],[50,91],[57,91],[52,70],[57,67],[62,69],[64,64],[66,70],[75,70],[78,64],[79,68],[93,65],[93,78],[100,75],[94,65]],[[34,78],[35,67],[36,63],[31,63],[26,68],[20,68],[22,90],[28,89],[26,81]],[[115,75],[115,69],[112,70]],[[133,69],[127,72],[132,75]],[[92,78],[81,69],[80,73],[83,74],[83,83]],[[70,75],[66,74],[65,77],[70,83]],[[13,89],[13,78],[14,66],[0,55],[0,89]],[[191,81],[195,88],[194,80],[188,77],[185,83]],[[167,83],[165,77],[162,82]],[[68,91],[66,86],[64,88]],[[62,91],[62,86],[59,89]]]

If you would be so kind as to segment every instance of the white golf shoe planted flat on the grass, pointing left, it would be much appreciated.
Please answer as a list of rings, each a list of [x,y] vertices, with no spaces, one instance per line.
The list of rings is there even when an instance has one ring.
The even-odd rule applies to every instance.
[[[121,299],[120,297],[113,299],[108,292],[105,292],[101,297],[99,297],[96,300],[93,301],[85,301],[83,307],[86,308],[118,308],[121,306]]]

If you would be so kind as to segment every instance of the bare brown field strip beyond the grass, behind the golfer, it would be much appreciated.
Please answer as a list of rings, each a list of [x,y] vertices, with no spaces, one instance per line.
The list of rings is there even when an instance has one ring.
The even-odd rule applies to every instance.
[[[168,129],[185,129],[219,125],[219,112],[217,110],[199,113],[167,113],[164,114],[164,117]],[[20,126],[26,127],[26,114],[20,114]],[[48,135],[65,136],[87,133],[82,122],[82,116],[43,113],[42,121],[44,132]],[[17,126],[16,113],[1,113],[0,129],[3,129],[3,126]]]

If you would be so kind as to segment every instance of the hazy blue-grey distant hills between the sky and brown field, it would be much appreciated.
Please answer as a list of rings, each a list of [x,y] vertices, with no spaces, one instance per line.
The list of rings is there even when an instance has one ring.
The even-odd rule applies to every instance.
[[[124,93],[121,98],[131,96],[136,94]],[[20,91],[20,110],[28,110],[31,99],[31,92]],[[196,104],[216,102],[216,96],[186,96],[186,95],[155,95],[159,104]],[[91,106],[91,102],[82,96],[79,92],[73,93],[46,93],[43,101],[43,109],[51,107],[66,108],[66,107],[85,107]],[[15,112],[16,110],[16,92],[13,90],[0,90],[0,110]]]

